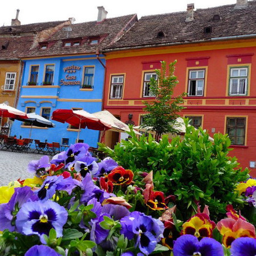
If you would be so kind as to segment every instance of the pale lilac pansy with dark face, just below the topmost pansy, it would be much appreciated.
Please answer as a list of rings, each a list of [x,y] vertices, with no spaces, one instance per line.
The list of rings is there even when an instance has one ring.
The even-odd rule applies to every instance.
[[[95,175],[98,171],[98,164],[95,160],[96,158],[93,158],[92,156],[80,158],[76,161],[74,166],[76,172],[80,172],[82,177],[85,177],[85,175],[88,173]]]

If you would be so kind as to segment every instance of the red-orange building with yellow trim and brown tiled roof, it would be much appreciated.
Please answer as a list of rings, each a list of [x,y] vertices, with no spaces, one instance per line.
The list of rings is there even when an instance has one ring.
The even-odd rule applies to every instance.
[[[175,94],[187,93],[180,115],[212,137],[228,133],[234,148],[230,156],[256,176],[255,18],[256,1],[246,0],[142,17],[105,51],[104,109],[139,125],[143,100],[154,100],[147,82],[156,78],[161,60],[177,60]]]

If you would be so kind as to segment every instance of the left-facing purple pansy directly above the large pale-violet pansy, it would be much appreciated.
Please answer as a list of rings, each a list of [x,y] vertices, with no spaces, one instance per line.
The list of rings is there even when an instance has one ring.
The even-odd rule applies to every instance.
[[[72,177],[64,179],[63,176],[47,176],[41,188],[35,191],[41,201],[51,199],[56,190],[65,190],[71,193],[75,187]]]

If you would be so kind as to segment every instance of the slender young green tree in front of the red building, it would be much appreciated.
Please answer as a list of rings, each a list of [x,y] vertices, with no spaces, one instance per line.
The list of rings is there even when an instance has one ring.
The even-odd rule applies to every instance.
[[[144,112],[142,128],[156,133],[156,141],[159,141],[160,137],[164,133],[177,133],[174,126],[178,127],[179,123],[176,118],[184,106],[183,96],[186,93],[180,94],[177,97],[172,97],[174,94],[174,88],[179,83],[177,77],[174,75],[176,60],[169,64],[168,74],[166,68],[166,62],[162,61],[162,68],[156,69],[158,80],[151,78],[150,93],[155,96],[155,101],[144,101]]]

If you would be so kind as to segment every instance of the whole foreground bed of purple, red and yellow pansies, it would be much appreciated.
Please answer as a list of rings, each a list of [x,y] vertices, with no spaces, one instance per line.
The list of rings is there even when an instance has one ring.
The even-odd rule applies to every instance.
[[[184,219],[181,199],[158,191],[153,171],[100,161],[88,148],[31,161],[32,179],[0,187],[1,255],[256,255],[254,213],[226,204],[226,218],[213,221],[199,196]],[[255,209],[256,180],[244,177],[232,198]]]

